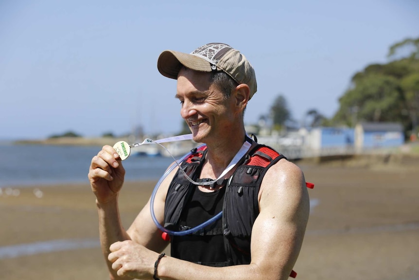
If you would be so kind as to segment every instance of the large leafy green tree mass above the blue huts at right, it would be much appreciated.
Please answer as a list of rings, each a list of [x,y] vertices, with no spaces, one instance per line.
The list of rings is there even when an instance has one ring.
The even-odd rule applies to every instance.
[[[409,52],[401,51],[409,47]],[[354,126],[358,121],[400,122],[406,136],[416,130],[419,113],[419,38],[405,39],[390,47],[386,64],[371,64],[351,78],[339,98],[333,122]]]

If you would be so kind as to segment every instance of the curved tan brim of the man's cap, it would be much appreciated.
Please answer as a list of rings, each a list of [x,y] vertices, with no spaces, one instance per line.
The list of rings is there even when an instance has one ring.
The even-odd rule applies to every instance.
[[[177,79],[182,66],[195,71],[211,72],[210,62],[198,56],[170,50],[164,51],[158,56],[157,69],[165,77]]]

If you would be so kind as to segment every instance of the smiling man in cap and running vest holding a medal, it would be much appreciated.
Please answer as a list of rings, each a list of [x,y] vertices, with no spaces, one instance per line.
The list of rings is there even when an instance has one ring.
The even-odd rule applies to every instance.
[[[152,219],[150,200],[123,229],[118,194],[125,171],[116,151],[104,146],[88,177],[111,279],[287,279],[303,241],[309,198],[296,165],[246,136],[244,110],[257,88],[252,66],[238,50],[211,43],[191,54],[165,51],[157,68],[177,79],[180,114],[193,140],[206,148],[162,180],[154,215],[176,232],[220,209],[223,218],[199,232],[172,234],[171,257],[159,255],[168,241]]]

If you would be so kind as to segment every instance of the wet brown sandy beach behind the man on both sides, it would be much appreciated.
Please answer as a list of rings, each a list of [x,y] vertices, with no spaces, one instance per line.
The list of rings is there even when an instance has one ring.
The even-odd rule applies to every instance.
[[[418,158],[374,166],[350,161],[297,164],[306,181],[315,184],[309,190],[310,221],[294,268],[297,280],[419,279]],[[120,206],[126,227],[154,185],[125,184]],[[40,198],[35,195],[39,191]],[[87,180],[19,188],[18,196],[3,189],[0,279],[108,279],[94,201]],[[55,247],[50,250],[51,243]]]

